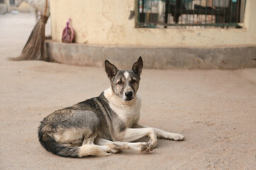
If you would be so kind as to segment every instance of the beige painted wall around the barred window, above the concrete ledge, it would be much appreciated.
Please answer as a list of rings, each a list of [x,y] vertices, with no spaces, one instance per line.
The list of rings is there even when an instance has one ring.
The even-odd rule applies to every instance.
[[[50,1],[52,38],[60,41],[70,17],[75,42],[89,45],[223,46],[256,45],[256,1],[247,0],[245,28],[135,28],[135,0]]]

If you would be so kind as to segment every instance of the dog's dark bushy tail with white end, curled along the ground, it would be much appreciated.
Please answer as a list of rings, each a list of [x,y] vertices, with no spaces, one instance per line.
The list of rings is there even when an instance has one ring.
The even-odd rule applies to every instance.
[[[85,157],[85,156],[106,156],[110,153],[98,145],[82,145],[81,147],[65,147],[49,135],[47,132],[38,131],[39,141],[41,145],[53,154],[60,157]]]

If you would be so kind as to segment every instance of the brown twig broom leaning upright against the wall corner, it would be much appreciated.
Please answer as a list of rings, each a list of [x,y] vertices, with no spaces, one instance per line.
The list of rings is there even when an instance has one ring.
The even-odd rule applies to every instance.
[[[40,20],[38,20],[36,26],[33,28],[26,45],[23,47],[21,55],[12,60],[47,60],[47,57],[44,54],[44,42],[46,39],[45,28],[48,20],[48,16],[46,16],[47,4],[48,0],[46,0],[43,15],[41,15]]]

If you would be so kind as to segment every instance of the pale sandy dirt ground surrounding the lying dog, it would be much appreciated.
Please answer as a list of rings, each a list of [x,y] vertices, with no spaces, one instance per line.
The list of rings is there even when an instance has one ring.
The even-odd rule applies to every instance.
[[[158,140],[148,154],[71,159],[46,152],[40,121],[110,83],[103,68],[9,61],[34,23],[33,13],[0,16],[0,169],[256,169],[256,69],[144,69],[140,123],[185,141]]]

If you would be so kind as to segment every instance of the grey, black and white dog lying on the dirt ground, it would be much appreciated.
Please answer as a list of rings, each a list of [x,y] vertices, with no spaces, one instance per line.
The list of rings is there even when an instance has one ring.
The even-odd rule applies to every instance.
[[[139,124],[141,98],[137,95],[142,57],[132,69],[119,70],[105,60],[110,88],[100,96],[55,111],[38,128],[41,145],[60,157],[105,156],[132,149],[150,152],[157,137],[184,140],[183,135]],[[133,142],[149,137],[149,142]]]

